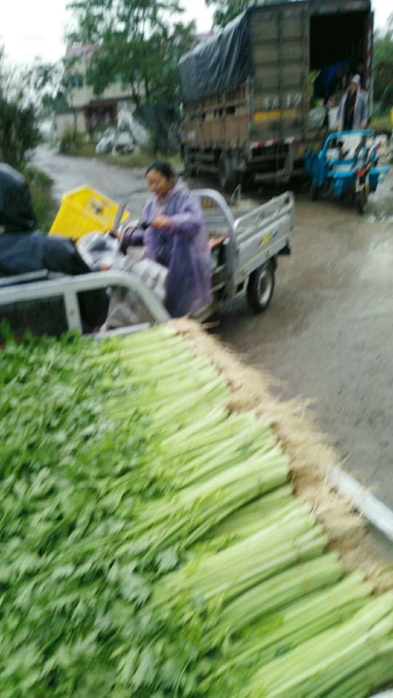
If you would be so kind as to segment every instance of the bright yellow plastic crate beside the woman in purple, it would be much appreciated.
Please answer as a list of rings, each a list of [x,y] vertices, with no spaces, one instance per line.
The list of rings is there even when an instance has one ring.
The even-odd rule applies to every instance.
[[[62,235],[78,240],[88,232],[112,230],[119,204],[96,189],[82,186],[64,194],[61,207],[54,218],[50,235]],[[124,211],[121,221],[130,214]]]

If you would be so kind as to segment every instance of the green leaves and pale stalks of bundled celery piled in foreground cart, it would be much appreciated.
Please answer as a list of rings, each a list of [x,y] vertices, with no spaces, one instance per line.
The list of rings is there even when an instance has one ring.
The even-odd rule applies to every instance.
[[[267,424],[174,330],[0,353],[1,698],[362,698],[373,596]]]

